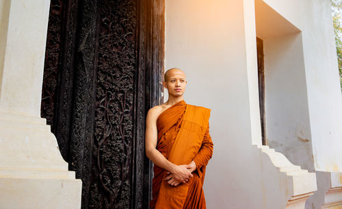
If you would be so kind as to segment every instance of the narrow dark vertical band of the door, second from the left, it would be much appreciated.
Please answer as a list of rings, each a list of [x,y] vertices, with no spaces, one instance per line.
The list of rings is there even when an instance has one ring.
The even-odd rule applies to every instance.
[[[73,112],[73,83],[75,72],[77,23],[79,1],[64,0],[64,21],[62,27],[62,49],[60,51],[60,85],[55,103],[55,132],[64,160],[70,163],[70,127]],[[50,24],[50,23],[49,23]]]

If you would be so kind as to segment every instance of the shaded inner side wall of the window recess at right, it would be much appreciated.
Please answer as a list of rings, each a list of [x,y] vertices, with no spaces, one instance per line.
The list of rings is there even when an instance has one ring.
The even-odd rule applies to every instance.
[[[300,33],[266,38],[265,118],[269,147],[314,172]]]

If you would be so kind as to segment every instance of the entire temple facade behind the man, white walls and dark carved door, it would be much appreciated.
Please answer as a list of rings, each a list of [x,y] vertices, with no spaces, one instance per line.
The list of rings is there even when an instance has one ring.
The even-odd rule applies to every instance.
[[[0,208],[148,208],[171,67],[212,110],[207,208],[342,208],[329,0],[0,0],[0,29]]]

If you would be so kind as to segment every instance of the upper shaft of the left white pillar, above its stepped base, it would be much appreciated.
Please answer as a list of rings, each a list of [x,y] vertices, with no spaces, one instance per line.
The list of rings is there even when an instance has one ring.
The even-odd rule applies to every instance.
[[[49,4],[47,0],[0,1],[1,29],[7,27],[0,33],[0,43],[5,43],[0,47],[2,111],[40,116]]]

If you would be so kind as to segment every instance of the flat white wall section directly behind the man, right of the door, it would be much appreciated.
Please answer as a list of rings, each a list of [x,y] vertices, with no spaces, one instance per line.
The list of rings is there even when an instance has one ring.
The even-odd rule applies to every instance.
[[[260,176],[246,176],[253,168],[244,163],[254,160],[245,149],[252,146],[243,2],[166,0],[165,65],[185,71],[187,103],[212,110],[214,149],[205,180],[207,208],[227,204],[248,208],[262,202],[262,193],[250,203],[244,197],[251,185],[261,189],[261,182]]]

